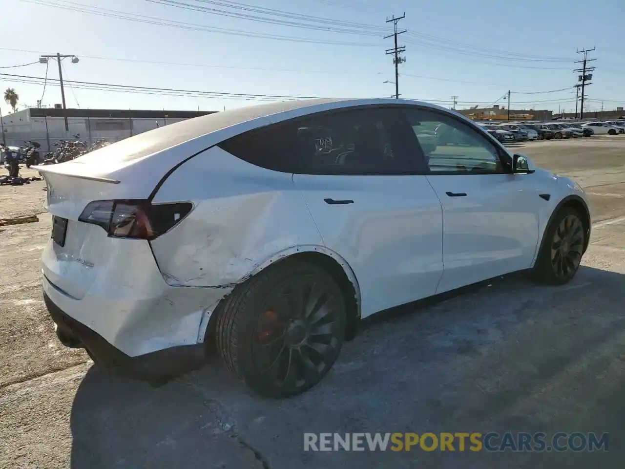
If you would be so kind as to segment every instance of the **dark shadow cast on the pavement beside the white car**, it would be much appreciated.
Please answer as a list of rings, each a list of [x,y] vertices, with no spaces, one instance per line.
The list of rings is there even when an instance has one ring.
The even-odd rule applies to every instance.
[[[617,467],[625,446],[625,278],[511,275],[362,323],[315,388],[259,398],[217,362],[153,388],[93,366],[74,468]],[[304,432],[611,432],[608,453],[303,451]]]

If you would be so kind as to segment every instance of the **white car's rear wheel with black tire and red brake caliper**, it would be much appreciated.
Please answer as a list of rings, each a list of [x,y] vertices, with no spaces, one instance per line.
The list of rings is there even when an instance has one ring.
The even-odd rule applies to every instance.
[[[291,396],[332,368],[346,320],[344,296],[326,271],[285,260],[234,289],[217,316],[216,346],[254,391]]]

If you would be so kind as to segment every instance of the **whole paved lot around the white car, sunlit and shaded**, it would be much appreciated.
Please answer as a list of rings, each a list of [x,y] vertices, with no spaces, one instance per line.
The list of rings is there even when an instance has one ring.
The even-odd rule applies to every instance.
[[[514,150],[590,194],[591,246],[574,281],[513,275],[377,315],[320,385],[286,400],[257,397],[218,362],[161,388],[93,366],[58,343],[42,302],[49,214],[0,227],[0,468],[622,466],[625,137]],[[43,182],[0,186],[0,218],[40,213],[45,194]],[[304,432],[404,431],[611,441],[594,453],[303,451]]]

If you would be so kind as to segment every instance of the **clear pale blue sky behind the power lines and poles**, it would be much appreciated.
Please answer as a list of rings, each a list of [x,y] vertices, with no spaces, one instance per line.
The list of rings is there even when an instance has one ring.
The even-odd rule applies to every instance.
[[[226,11],[236,18],[197,8]],[[253,11],[258,8],[264,10]],[[276,14],[269,15],[266,9]],[[164,19],[183,28],[111,18],[119,16],[111,10],[135,20],[151,17],[158,20],[147,21],[162,23]],[[625,21],[622,0],[0,0],[0,11],[15,18],[2,25],[0,67],[37,61],[40,53],[60,52],[80,58],[77,64],[63,61],[64,78],[69,80],[311,97],[393,94],[394,85],[383,83],[394,79],[391,57],[384,54],[392,40],[382,36],[392,32],[386,16],[405,11],[406,18],[399,22],[400,28],[408,30],[399,36],[399,44],[406,46],[406,63],[400,66],[399,77],[404,98],[449,106],[451,96],[456,95],[457,107],[467,108],[490,104],[511,89],[512,108],[572,111],[572,89],[531,93],[572,87],[577,79],[572,73],[578,66],[574,61],[581,59],[576,49],[596,46],[589,54],[597,59],[592,63],[597,70],[587,88],[591,99],[586,109],[600,109],[601,100],[605,109],[625,105],[624,39],[619,33]],[[241,14],[255,18],[244,19]],[[211,28],[234,34],[208,31]],[[282,38],[242,36],[237,31]],[[0,73],[43,77],[46,65],[2,68]],[[56,62],[49,64],[48,77],[58,78]],[[34,106],[42,96],[41,83],[8,76],[0,79],[2,89],[16,89],[21,104]],[[68,107],[81,108],[202,110],[257,103],[233,97],[161,96],[69,86],[66,101]],[[59,88],[49,83],[43,103],[60,102]],[[506,104],[503,99],[498,103]],[[8,112],[9,106],[1,104],[2,112]]]

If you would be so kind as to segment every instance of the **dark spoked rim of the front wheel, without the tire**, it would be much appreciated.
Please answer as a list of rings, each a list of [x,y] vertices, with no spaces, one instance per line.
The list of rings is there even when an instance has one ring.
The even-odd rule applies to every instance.
[[[570,278],[584,253],[584,226],[575,214],[567,214],[558,224],[551,241],[551,266],[557,278]]]

